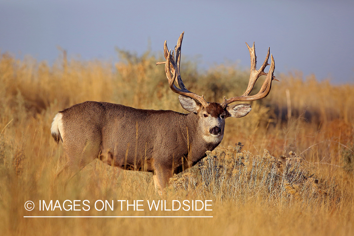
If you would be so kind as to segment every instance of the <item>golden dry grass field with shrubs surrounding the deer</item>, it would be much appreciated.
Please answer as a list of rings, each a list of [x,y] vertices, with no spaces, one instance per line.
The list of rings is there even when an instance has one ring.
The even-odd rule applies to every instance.
[[[185,112],[163,66],[155,65],[161,58],[119,55],[114,64],[67,59],[63,52],[52,66],[0,55],[1,235],[354,235],[354,85],[333,86],[299,72],[277,75],[280,82],[273,82],[267,98],[251,103],[249,115],[228,118],[222,143],[171,178],[165,197],[155,194],[150,173],[99,161],[64,191],[55,179],[64,151],[50,135],[57,111],[96,100]],[[215,102],[241,95],[249,79],[237,65],[198,71],[187,61],[181,73],[189,90]],[[24,208],[29,200],[33,211]],[[80,200],[81,211],[40,211],[40,200],[46,206],[58,200],[61,207]],[[97,200],[113,200],[114,210],[95,210]],[[144,211],[121,211],[117,200],[142,200]],[[173,200],[212,200],[212,211],[150,211],[147,201],[153,200],[166,200],[167,209]],[[53,215],[213,218],[23,217]]]

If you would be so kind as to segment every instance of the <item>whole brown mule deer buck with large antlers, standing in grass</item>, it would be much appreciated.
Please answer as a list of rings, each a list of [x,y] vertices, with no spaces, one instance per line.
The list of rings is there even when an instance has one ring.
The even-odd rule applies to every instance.
[[[182,107],[189,111],[182,114],[171,110],[142,110],[107,102],[91,102],[73,105],[55,116],[51,133],[58,143],[63,142],[67,163],[58,173],[73,176],[88,163],[98,158],[108,165],[126,170],[153,173],[155,189],[164,191],[170,177],[192,167],[206,151],[216,148],[224,136],[225,119],[242,117],[251,111],[250,104],[229,105],[236,101],[253,101],[266,97],[270,91],[274,73],[274,59],[268,73],[256,70],[255,44],[247,47],[251,56],[251,76],[246,92],[222,103],[207,102],[187,90],[179,66],[183,34],[179,36],[175,52],[164,44],[165,71],[171,90],[178,93]],[[175,58],[176,54],[176,58]],[[267,75],[261,90],[250,96],[259,76]],[[175,85],[175,80],[179,88]],[[278,81],[278,80],[277,80]]]

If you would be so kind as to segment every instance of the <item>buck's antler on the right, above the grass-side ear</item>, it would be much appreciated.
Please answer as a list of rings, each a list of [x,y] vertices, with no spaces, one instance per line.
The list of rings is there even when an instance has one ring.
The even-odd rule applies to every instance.
[[[273,55],[271,55],[272,58],[272,62],[270,63],[270,68],[269,68],[269,72],[265,73],[264,69],[265,67],[267,67],[268,64],[268,59],[269,59],[269,52],[270,52],[270,48],[268,48],[268,53],[267,53],[267,57],[265,58],[263,65],[261,66],[261,68],[259,68],[259,70],[256,70],[256,64],[257,64],[257,60],[256,60],[256,50],[255,50],[255,42],[253,42],[253,46],[250,47],[247,42],[246,45],[248,47],[248,50],[250,51],[250,56],[251,56],[251,75],[250,75],[250,81],[248,83],[246,92],[244,94],[242,94],[242,96],[239,97],[232,97],[229,99],[226,99],[224,97],[224,101],[221,104],[221,106],[223,108],[225,108],[228,104],[236,102],[236,101],[253,101],[253,100],[259,100],[262,99],[264,97],[267,97],[267,95],[270,92],[270,88],[272,87],[272,80],[276,80],[279,81],[277,79],[275,79],[274,74],[274,69],[275,69],[275,64],[274,64],[274,58]],[[262,75],[267,75],[267,77],[265,78],[265,81],[261,87],[261,90],[259,90],[259,92],[255,95],[249,96],[249,94],[251,93],[253,87],[256,84],[257,79],[262,76]]]

